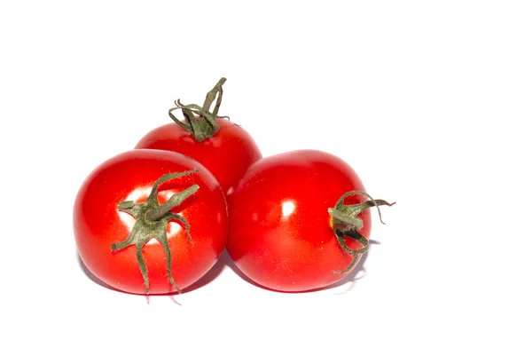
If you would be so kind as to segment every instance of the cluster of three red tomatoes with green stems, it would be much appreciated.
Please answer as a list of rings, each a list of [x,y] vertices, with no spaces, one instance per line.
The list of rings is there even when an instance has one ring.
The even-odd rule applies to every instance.
[[[246,130],[218,115],[224,82],[203,106],[177,100],[168,111],[173,123],[82,183],[74,201],[78,253],[109,286],[181,292],[227,248],[258,285],[306,291],[342,279],[367,251],[370,208],[392,204],[372,199],[355,170],[332,154],[262,158]]]

